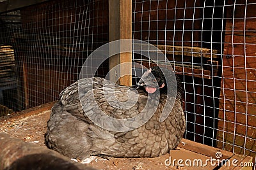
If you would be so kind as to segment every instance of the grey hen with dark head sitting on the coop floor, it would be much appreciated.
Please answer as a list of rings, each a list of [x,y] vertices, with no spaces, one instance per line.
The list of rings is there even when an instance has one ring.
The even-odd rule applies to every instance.
[[[177,147],[185,131],[180,80],[177,78],[176,91],[172,89],[172,87],[176,87],[176,84],[172,84],[176,81],[170,79],[168,76],[164,78],[159,67],[152,67],[141,77],[137,90],[116,85],[99,77],[76,81],[61,92],[58,103],[52,107],[45,134],[46,145],[67,157],[81,160],[90,157],[90,155],[157,157],[168,153],[169,150]],[[168,87],[166,84],[169,84]],[[171,104],[167,100],[168,88],[171,92],[170,99],[173,99],[173,108],[170,107]],[[83,95],[79,96],[80,92]],[[110,94],[110,98],[106,97],[106,94]],[[118,101],[111,100],[113,96]],[[155,99],[157,96],[159,101]],[[96,119],[100,120],[100,117],[97,117],[99,115],[97,107],[109,117],[118,119],[136,117],[141,111],[147,115],[147,112],[150,112],[150,107],[154,105],[149,102],[148,107],[145,106],[148,98],[150,98],[150,102],[158,102],[156,111],[145,124],[138,125],[140,127],[136,129],[111,131],[95,125],[88,118],[88,115],[94,115]],[[130,104],[130,108],[125,108],[127,104],[123,106],[122,102],[129,99],[133,104]],[[161,122],[159,118],[166,106],[168,115]],[[111,124],[109,121],[102,121],[103,124]],[[137,119],[132,121],[140,124]],[[118,126],[113,122],[111,125]],[[118,128],[122,129],[123,127]]]

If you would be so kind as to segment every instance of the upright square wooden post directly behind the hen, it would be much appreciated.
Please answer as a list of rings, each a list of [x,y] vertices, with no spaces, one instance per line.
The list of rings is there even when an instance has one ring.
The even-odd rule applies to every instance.
[[[132,0],[109,0],[109,42],[132,38]],[[123,45],[124,46],[124,45]],[[122,43],[120,44],[122,48]],[[125,48],[132,49],[132,42],[125,43]],[[111,49],[109,49],[111,51]],[[121,63],[125,65],[119,65]],[[115,67],[117,66],[117,67]],[[114,69],[112,69],[115,67]],[[109,59],[109,78],[120,85],[132,85],[132,53],[119,53]],[[120,75],[129,74],[126,76]],[[119,79],[118,79],[119,78]]]

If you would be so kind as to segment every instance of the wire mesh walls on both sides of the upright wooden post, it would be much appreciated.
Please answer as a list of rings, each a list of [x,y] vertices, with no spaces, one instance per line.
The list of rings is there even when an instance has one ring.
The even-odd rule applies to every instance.
[[[249,0],[132,1],[132,38],[162,50],[182,80],[184,138],[252,157],[255,8]],[[24,110],[55,101],[79,78],[86,57],[108,42],[108,1],[47,1],[3,13],[0,24],[0,82],[4,69],[5,80],[13,80],[1,83],[0,103]],[[154,65],[140,55],[132,60]],[[96,76],[108,70],[107,61]]]

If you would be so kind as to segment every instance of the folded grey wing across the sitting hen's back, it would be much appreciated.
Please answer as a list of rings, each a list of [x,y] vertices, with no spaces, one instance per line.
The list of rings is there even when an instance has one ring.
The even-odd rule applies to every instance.
[[[80,99],[78,94],[78,86]],[[92,124],[88,115],[94,120],[100,120],[104,124],[115,124],[102,117],[102,113],[112,118],[124,119],[134,118],[143,111],[147,104],[147,94],[130,87],[115,85],[104,78],[85,78],[77,81],[63,90],[60,94],[60,102],[63,104],[63,111],[68,111],[77,118]],[[148,104],[149,109],[153,104]],[[145,111],[142,116],[147,116],[150,111]],[[141,118],[131,119],[134,126]],[[122,127],[122,125],[115,126]]]

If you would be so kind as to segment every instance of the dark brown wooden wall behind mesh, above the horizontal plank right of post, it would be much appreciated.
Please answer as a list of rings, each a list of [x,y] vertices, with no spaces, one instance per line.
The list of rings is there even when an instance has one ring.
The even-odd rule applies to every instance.
[[[195,1],[185,3],[183,0],[168,1],[168,3],[166,1],[136,1],[136,4],[132,6],[132,10],[135,11],[132,16],[134,38],[149,40],[152,44],[158,41],[158,44],[163,45],[201,46],[202,31],[200,28],[203,11],[200,7],[203,5],[204,1],[196,1],[196,4]],[[185,7],[186,11],[184,11]],[[173,39],[175,39],[174,44]]]

